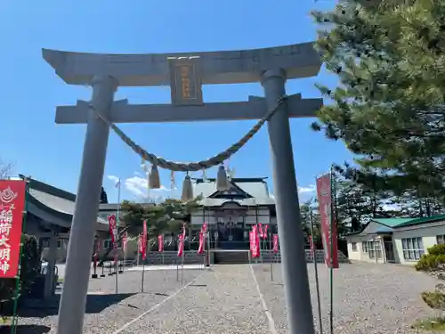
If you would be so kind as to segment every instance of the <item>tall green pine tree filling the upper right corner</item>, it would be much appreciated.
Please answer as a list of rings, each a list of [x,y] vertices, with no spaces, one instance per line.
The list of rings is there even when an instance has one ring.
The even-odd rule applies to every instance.
[[[320,86],[332,103],[313,128],[357,154],[361,183],[445,198],[445,0],[348,1],[313,16],[340,81]]]

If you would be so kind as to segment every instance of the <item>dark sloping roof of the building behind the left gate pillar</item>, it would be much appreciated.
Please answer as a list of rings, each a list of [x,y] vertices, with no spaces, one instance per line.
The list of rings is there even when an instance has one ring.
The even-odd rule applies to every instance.
[[[20,175],[20,178],[23,179],[25,176]],[[69,228],[73,218],[76,195],[32,178],[28,178],[28,181],[28,211],[48,223]],[[108,231],[108,228],[108,222],[98,216],[96,230]]]

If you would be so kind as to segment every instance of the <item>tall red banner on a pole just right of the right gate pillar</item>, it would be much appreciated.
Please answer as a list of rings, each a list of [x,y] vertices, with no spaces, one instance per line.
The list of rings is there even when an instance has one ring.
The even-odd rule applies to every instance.
[[[317,179],[317,197],[320,205],[321,240],[323,241],[325,264],[328,268],[338,268],[336,222],[332,216],[331,175],[323,175]],[[330,235],[331,227],[332,236]]]

